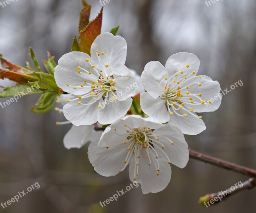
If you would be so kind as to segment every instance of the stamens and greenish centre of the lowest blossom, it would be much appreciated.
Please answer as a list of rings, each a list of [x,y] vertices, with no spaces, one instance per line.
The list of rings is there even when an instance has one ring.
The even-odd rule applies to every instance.
[[[117,146],[122,143],[126,144],[126,146],[128,145],[127,147],[128,153],[127,153],[126,159],[124,160],[125,165],[122,170],[119,170],[119,172],[122,172],[126,168],[126,166],[130,163],[130,159],[134,157],[134,161],[135,161],[134,181],[135,181],[136,176],[139,175],[140,152],[145,152],[146,159],[148,159],[148,166],[150,166],[153,163],[153,166],[156,169],[156,173],[157,175],[159,175],[160,165],[158,162],[158,157],[160,152],[167,159],[167,163],[170,164],[169,157],[163,151],[164,145],[161,143],[161,140],[164,139],[169,141],[171,144],[174,144],[173,141],[163,136],[156,136],[153,133],[153,130],[150,129],[150,127],[143,126],[139,128],[131,128],[127,126],[127,124],[124,124],[124,126],[127,129],[125,135],[119,134],[117,129],[115,129],[115,133],[118,136],[126,137],[127,140],[113,145],[113,146]],[[111,147],[107,147],[107,149]],[[145,165],[142,165],[142,166],[145,166]]]

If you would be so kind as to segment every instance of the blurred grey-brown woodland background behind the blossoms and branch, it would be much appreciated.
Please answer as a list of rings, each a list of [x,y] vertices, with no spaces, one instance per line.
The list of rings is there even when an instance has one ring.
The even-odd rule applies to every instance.
[[[92,5],[91,20],[101,4]],[[209,4],[208,4],[209,5]],[[22,66],[30,61],[29,47],[38,59],[46,51],[56,61],[70,52],[78,33],[80,0],[18,0],[0,6],[0,53]],[[142,73],[145,64],[165,64],[170,55],[187,51],[201,61],[199,74],[220,82],[221,88],[238,86],[222,98],[220,108],[201,114],[206,130],[186,136],[189,147],[237,164],[256,168],[256,2],[255,0],[111,0],[103,10],[102,32],[120,25],[118,34],[128,43],[126,65]],[[42,62],[41,62],[41,67]],[[12,83],[0,80],[0,85]],[[53,109],[33,114],[39,96],[22,97],[0,107],[0,202],[38,181],[40,189],[0,212],[6,213],[153,213],[153,212],[255,212],[256,189],[238,193],[209,208],[199,197],[225,190],[248,177],[190,159],[184,169],[172,166],[168,187],[143,195],[140,187],[102,208],[103,202],[130,184],[128,170],[114,177],[98,175],[87,148],[67,150],[62,139],[68,125]],[[5,102],[7,99],[0,99]]]

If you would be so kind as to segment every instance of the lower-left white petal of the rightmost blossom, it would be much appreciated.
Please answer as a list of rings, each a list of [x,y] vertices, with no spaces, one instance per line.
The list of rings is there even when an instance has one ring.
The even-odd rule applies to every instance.
[[[166,123],[170,120],[165,103],[166,100],[163,100],[160,97],[154,99],[148,94],[148,92],[140,94],[140,106],[142,111],[145,114],[158,119],[162,123]]]

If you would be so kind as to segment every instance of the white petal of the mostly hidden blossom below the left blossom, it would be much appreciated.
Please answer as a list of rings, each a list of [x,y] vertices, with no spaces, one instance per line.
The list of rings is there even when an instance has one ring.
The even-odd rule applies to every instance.
[[[93,125],[75,126],[72,125],[71,129],[67,132],[63,139],[66,149],[78,148],[80,149],[89,140],[93,130]]]

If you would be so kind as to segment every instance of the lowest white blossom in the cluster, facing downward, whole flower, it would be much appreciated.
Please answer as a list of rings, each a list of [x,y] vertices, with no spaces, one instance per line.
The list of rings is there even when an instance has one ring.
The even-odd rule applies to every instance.
[[[175,125],[130,115],[108,126],[99,143],[89,145],[88,157],[103,176],[117,175],[129,165],[130,180],[140,183],[146,194],[164,190],[171,179],[170,164],[184,168],[189,151]]]

